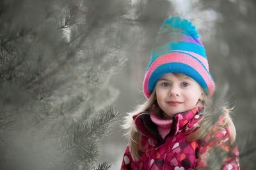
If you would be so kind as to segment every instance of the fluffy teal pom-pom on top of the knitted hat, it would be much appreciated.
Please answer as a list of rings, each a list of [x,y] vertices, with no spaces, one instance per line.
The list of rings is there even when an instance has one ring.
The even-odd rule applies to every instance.
[[[164,20],[163,25],[161,25],[158,34],[168,33],[172,36],[173,34],[183,33],[192,38],[199,38],[199,33],[196,31],[196,27],[192,25],[191,22],[180,17],[171,17]]]

